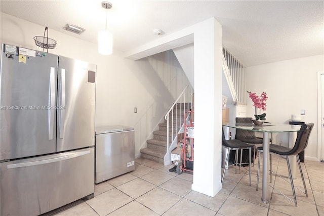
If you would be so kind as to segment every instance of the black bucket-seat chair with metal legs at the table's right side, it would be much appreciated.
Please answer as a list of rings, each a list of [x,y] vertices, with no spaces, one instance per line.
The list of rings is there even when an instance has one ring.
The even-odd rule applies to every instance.
[[[285,194],[283,194],[283,193],[281,193],[279,191],[278,192],[281,195],[284,195],[286,198],[288,198],[292,202],[295,202],[295,205],[296,206],[297,206],[297,200],[296,200],[294,180],[293,180],[293,177],[292,177],[292,171],[291,171],[290,164],[289,164],[289,157],[290,156],[296,156],[297,157],[299,171],[300,171],[301,178],[302,178],[303,185],[304,185],[304,191],[300,190],[297,187],[296,188],[298,190],[300,190],[301,192],[303,192],[304,194],[306,194],[306,197],[308,197],[307,189],[306,189],[306,184],[305,184],[305,179],[304,179],[302,167],[300,165],[300,160],[299,160],[299,155],[298,154],[306,149],[307,144],[308,144],[309,135],[310,135],[310,132],[312,131],[313,126],[314,126],[314,123],[303,124],[301,126],[301,128],[300,128],[300,130],[298,132],[297,138],[296,138],[295,146],[292,149],[287,148],[287,147],[284,147],[284,146],[275,145],[275,144],[271,144],[269,146],[269,148],[270,148],[270,154],[271,153],[274,153],[274,154],[282,155],[282,156],[285,156],[286,157],[287,166],[288,166],[288,172],[289,172],[289,178],[290,178],[290,184],[291,184],[292,190],[293,190],[294,201],[292,199],[290,199],[288,196],[286,196]],[[258,163],[258,174],[257,174],[257,190],[258,190],[258,185],[259,185],[260,158],[261,158],[260,155],[263,152],[263,147],[258,147],[258,152],[259,152],[259,163]],[[272,172],[272,167],[271,166],[272,165],[271,165],[271,157],[270,157],[270,172]],[[281,177],[282,179],[284,179],[279,174],[277,174],[277,175],[279,177]],[[285,179],[285,181],[286,181],[286,179]],[[286,182],[288,182],[288,181],[286,181]],[[275,188],[273,188],[273,189],[275,189]]]

